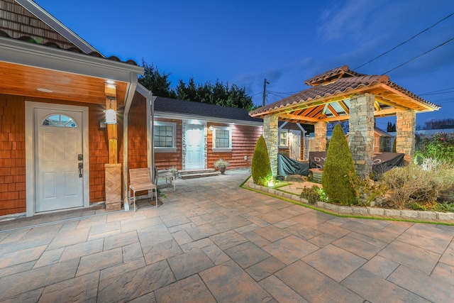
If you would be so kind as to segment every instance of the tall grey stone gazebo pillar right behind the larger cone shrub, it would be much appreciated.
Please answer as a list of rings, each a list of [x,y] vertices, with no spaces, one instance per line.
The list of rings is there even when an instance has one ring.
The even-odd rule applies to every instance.
[[[374,157],[375,95],[360,94],[350,99],[348,141],[358,177],[367,179]]]

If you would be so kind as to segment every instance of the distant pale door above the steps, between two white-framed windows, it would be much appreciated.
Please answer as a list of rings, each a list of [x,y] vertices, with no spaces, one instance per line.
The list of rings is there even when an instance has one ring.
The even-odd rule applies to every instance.
[[[199,170],[204,168],[204,126],[188,124],[186,139],[186,169]]]

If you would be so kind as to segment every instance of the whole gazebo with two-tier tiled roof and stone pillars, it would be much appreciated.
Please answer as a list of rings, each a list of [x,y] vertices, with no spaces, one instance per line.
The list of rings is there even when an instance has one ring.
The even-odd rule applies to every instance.
[[[326,149],[327,123],[348,120],[348,141],[358,176],[372,172],[375,118],[397,116],[396,151],[414,155],[416,113],[441,108],[391,82],[387,75],[364,75],[347,65],[307,79],[309,89],[250,111],[263,119],[272,175],[277,175],[278,121],[314,124],[315,149]]]

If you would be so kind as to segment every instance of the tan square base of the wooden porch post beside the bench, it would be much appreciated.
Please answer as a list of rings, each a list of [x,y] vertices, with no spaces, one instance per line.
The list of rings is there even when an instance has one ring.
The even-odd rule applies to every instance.
[[[106,211],[121,209],[121,163],[105,164]]]

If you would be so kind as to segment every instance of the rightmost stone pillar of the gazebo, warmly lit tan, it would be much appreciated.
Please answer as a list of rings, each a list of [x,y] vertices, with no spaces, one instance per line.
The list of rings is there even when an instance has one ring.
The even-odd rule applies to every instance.
[[[396,152],[404,153],[404,160],[409,163],[414,156],[416,111],[401,111],[396,116]]]

